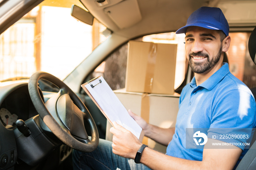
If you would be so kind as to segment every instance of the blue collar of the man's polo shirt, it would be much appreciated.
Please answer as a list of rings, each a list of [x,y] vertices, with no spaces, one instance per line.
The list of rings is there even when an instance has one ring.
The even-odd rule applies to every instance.
[[[209,77],[206,81],[204,81],[199,86],[206,88],[208,90],[212,90],[229,72],[229,64],[223,63],[222,67],[212,74],[211,77]],[[193,79],[190,82],[190,86],[192,88],[196,87],[196,79],[193,77]]]

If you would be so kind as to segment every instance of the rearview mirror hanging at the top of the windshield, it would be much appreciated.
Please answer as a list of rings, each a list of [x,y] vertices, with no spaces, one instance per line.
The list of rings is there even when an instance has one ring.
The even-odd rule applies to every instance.
[[[93,25],[93,15],[91,15],[90,12],[87,12],[84,9],[78,7],[77,5],[72,5],[71,16],[83,23],[89,24],[91,26]]]

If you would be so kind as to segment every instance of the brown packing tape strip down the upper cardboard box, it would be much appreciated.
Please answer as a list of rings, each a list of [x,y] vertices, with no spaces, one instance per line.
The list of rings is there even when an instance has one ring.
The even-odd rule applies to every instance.
[[[144,92],[151,93],[154,79],[155,63],[157,61],[157,44],[151,43],[148,52]]]

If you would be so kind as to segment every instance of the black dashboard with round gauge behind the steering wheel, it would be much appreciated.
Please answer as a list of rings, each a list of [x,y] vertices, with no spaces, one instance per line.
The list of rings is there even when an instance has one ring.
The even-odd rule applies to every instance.
[[[44,81],[38,83],[44,103],[59,90]],[[28,136],[16,126],[19,119],[26,123]],[[4,136],[0,138],[0,170],[58,167],[72,153],[39,117],[27,82],[0,87],[0,136]]]

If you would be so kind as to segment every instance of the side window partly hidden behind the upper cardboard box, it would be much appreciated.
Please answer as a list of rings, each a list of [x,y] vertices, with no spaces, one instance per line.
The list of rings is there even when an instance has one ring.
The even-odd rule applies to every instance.
[[[185,35],[177,35],[175,32],[167,32],[147,35],[136,39],[143,42],[170,43],[178,45],[174,88],[178,88],[181,85],[185,75],[184,36]],[[118,48],[105,61],[103,61],[91,74],[91,78],[103,76],[112,90],[124,88],[127,52],[128,43]]]

